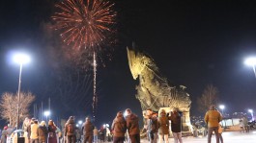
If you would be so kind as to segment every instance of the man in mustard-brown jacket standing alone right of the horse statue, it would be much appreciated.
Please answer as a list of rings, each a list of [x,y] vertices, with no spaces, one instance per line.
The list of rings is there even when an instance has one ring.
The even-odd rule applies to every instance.
[[[210,106],[210,110],[206,112],[205,122],[208,125],[208,143],[211,143],[213,131],[216,136],[216,143],[219,143],[218,123],[222,120],[222,115],[216,110],[215,106]]]

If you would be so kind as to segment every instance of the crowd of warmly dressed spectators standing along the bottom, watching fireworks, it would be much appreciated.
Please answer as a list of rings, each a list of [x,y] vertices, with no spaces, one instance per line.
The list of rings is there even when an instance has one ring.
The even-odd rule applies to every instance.
[[[139,128],[139,118],[129,108],[118,111],[112,122],[110,129],[102,127],[99,130],[86,117],[81,128],[75,126],[74,117],[71,116],[64,128],[60,130],[52,120],[39,122],[35,118],[25,118],[22,131],[29,143],[98,143],[104,141],[113,141],[113,143],[140,143],[141,131]],[[168,143],[170,130],[175,143],[183,143],[182,139],[182,116],[183,112],[179,108],[174,107],[170,113],[164,109],[154,112],[152,108],[147,108],[143,114],[147,139],[150,143]],[[211,143],[213,132],[215,134],[216,143],[223,143],[223,128],[219,124],[222,120],[221,113],[215,106],[211,106],[205,114],[205,122],[208,127],[208,143]],[[240,119],[240,127],[242,132],[248,132],[248,121],[246,117]],[[14,131],[14,130],[13,130]],[[1,132],[1,142],[6,143],[6,138],[10,135],[8,127],[4,127]]]

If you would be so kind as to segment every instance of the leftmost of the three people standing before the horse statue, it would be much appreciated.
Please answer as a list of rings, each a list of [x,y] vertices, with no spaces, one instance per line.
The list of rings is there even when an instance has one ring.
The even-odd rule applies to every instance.
[[[150,143],[156,143],[158,123],[157,113],[153,112],[151,108],[147,108],[145,118],[147,119],[147,132],[149,134]]]

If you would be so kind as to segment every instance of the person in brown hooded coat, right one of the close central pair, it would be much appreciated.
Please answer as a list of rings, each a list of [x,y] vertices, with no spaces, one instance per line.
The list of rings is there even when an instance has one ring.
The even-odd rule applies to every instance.
[[[140,143],[139,118],[137,115],[132,113],[129,108],[126,109],[126,112],[126,121],[130,142]]]

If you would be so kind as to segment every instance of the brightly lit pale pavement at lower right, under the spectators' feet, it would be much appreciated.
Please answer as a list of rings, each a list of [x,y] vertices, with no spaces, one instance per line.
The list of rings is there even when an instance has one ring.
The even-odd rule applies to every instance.
[[[224,143],[256,143],[256,131],[242,133],[239,131],[229,131],[222,133]],[[184,143],[207,143],[207,136],[205,137],[183,137]],[[148,143],[142,140],[142,143]],[[215,136],[212,136],[212,143],[215,143]],[[173,138],[169,138],[169,143],[174,143]]]

